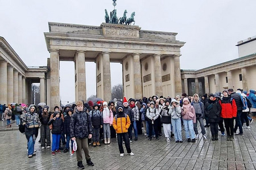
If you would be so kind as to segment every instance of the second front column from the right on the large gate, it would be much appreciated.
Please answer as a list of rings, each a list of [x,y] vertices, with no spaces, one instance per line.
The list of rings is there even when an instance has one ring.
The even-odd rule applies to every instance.
[[[155,65],[155,94],[158,96],[162,96],[163,88],[162,88],[160,54],[155,54],[154,61],[155,61],[155,63],[154,63],[154,65]]]

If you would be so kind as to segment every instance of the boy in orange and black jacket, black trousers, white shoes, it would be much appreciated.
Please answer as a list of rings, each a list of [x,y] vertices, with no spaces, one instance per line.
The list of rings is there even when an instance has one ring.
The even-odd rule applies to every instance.
[[[117,107],[117,114],[113,119],[113,128],[117,132],[117,142],[119,147],[120,156],[123,157],[123,145],[122,139],[125,141],[125,147],[128,155],[133,156],[134,153],[131,152],[130,141],[128,137],[128,128],[130,127],[130,118],[123,112],[123,106],[119,105]]]

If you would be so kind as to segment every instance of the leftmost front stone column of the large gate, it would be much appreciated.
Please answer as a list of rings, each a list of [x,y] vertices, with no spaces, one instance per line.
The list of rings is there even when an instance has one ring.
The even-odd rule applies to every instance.
[[[53,111],[56,105],[60,105],[60,58],[59,50],[50,50],[51,60],[51,105]]]

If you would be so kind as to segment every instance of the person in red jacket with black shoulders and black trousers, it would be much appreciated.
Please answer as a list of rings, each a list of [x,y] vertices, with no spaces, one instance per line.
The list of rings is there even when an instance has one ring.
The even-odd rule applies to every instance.
[[[221,117],[224,119],[227,141],[234,141],[234,118],[237,117],[237,105],[236,101],[229,96],[228,90],[224,90],[223,97],[220,100],[221,104]]]

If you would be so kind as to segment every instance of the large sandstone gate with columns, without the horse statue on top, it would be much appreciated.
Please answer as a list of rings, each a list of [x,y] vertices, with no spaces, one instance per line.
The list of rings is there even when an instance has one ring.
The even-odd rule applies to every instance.
[[[60,61],[75,62],[75,99],[86,100],[85,62],[96,63],[97,97],[111,100],[110,62],[122,63],[123,92],[128,97],[175,96],[181,92],[177,33],[146,31],[137,25],[98,26],[48,23],[44,33],[48,58],[47,103],[60,103]]]

